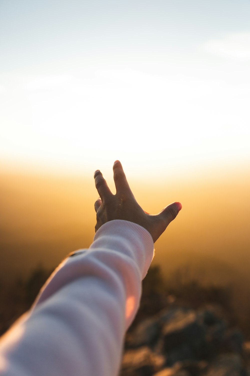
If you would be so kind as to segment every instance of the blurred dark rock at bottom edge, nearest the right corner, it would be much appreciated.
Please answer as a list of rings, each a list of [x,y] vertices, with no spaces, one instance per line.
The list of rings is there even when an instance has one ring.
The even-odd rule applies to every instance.
[[[247,376],[247,372],[238,354],[223,354],[214,359],[204,376]]]

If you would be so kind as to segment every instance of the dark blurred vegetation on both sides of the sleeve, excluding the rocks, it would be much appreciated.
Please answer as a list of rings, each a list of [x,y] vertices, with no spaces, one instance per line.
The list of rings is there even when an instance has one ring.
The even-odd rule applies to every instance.
[[[17,278],[11,284],[0,282],[0,335],[26,312],[52,270],[38,265],[27,279]],[[141,305],[129,330],[144,318],[169,306],[190,308],[217,305],[229,324],[238,326],[250,339],[250,300],[240,287],[203,285],[189,276],[188,269],[176,270],[166,280],[159,266],[151,267],[142,283]]]

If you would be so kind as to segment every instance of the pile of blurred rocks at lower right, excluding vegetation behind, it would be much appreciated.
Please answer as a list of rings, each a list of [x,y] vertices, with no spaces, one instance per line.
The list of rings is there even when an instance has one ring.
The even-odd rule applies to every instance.
[[[169,307],[129,331],[120,376],[247,376],[249,354],[219,306]]]

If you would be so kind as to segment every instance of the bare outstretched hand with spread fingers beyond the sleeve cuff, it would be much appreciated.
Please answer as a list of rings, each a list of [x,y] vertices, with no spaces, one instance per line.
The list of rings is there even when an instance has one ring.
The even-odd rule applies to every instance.
[[[158,214],[149,214],[137,203],[120,161],[114,162],[113,170],[116,194],[111,192],[100,170],[96,170],[94,173],[96,189],[100,195],[94,203],[96,211],[95,230],[97,231],[108,221],[122,219],[144,227],[155,242],[177,216],[182,208],[181,203],[173,202]]]

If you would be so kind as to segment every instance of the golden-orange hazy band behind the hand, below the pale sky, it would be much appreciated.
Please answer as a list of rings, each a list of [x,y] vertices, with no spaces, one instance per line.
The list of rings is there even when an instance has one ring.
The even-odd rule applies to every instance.
[[[130,178],[143,209],[154,214],[178,200],[183,209],[156,242],[153,264],[169,275],[189,267],[195,277],[227,282],[249,274],[249,191],[245,166],[193,171],[190,178],[162,172],[154,182]],[[109,185],[110,176],[106,177]],[[93,175],[59,176],[41,171],[4,172],[1,193],[1,275],[27,274],[38,264],[53,268],[75,249],[88,247],[96,223]]]

